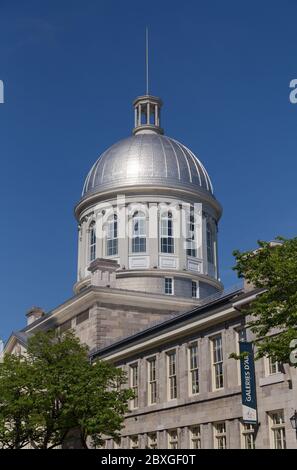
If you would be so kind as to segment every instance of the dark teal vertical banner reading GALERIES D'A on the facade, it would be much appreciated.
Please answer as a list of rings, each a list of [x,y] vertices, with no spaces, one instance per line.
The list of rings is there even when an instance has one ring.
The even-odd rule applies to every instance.
[[[243,422],[257,424],[255,362],[252,343],[240,341],[239,352],[240,354],[246,353],[240,359]]]

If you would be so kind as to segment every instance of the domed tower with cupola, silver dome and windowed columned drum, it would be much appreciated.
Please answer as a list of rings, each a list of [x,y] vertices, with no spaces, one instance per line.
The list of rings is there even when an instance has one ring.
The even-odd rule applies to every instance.
[[[164,135],[160,98],[139,96],[133,105],[132,135],[100,155],[75,207],[75,292],[92,283],[102,286],[109,268],[104,261],[106,272],[96,269],[108,260],[117,264],[108,285],[195,302],[222,289],[217,254],[222,207],[200,160]]]

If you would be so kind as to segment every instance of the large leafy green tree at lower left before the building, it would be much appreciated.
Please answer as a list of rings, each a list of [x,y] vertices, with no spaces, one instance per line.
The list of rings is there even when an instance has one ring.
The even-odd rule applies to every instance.
[[[123,387],[126,375],[107,362],[91,364],[87,348],[72,332],[62,337],[53,331],[38,332],[30,338],[25,357],[5,358],[0,367],[0,390],[9,388],[7,374],[1,370],[11,366],[27,403],[21,415],[24,439],[19,447],[29,442],[35,448],[50,449],[75,435],[75,445],[87,448],[90,441],[93,446],[100,445],[103,435],[118,437],[128,400],[133,397],[132,391]],[[19,368],[25,371],[23,378]],[[8,407],[18,415],[22,403],[12,395],[4,402],[0,395],[0,422],[11,433],[5,447],[15,448],[19,432],[16,420],[5,418]]]

